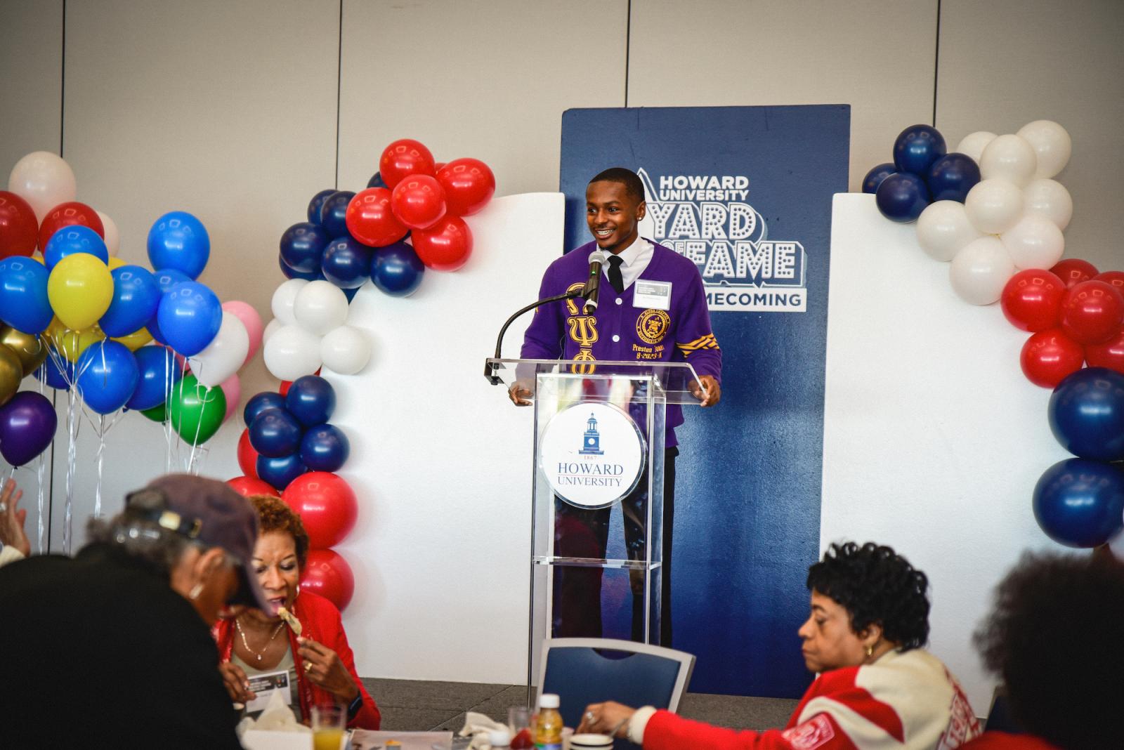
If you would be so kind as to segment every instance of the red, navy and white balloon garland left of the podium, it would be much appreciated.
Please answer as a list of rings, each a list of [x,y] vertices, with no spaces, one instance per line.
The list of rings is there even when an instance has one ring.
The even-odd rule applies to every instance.
[[[238,466],[228,482],[243,494],[279,494],[308,530],[311,550],[301,585],[343,610],[354,576],[335,550],[355,525],[359,504],[335,474],[350,454],[346,435],[329,424],[335,392],[321,367],[353,375],[366,367],[371,342],[347,324],[348,304],[369,281],[380,292],[409,296],[426,268],[456,271],[472,254],[463,217],[496,192],[487,164],[459,158],[437,164],[424,145],[396,140],[383,149],[366,189],[323,190],[307,221],[281,235],[279,265],[288,278],[273,293],[265,328],[265,367],[280,393],[252,397],[243,417]]]

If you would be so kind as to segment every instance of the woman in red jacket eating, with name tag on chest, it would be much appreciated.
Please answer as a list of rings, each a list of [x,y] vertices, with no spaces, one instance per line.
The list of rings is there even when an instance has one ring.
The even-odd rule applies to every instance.
[[[305,524],[280,497],[248,497],[261,521],[253,565],[271,609],[246,610],[214,630],[221,664],[219,671],[233,701],[247,703],[247,676],[288,671],[290,706],[307,720],[314,705],[337,703],[347,707],[347,725],[379,729],[379,706],[355,673],[339,610],[328,600],[300,591],[300,574],[308,557]],[[282,619],[284,607],[296,618]],[[290,625],[287,628],[287,621]],[[278,635],[284,631],[284,637]]]

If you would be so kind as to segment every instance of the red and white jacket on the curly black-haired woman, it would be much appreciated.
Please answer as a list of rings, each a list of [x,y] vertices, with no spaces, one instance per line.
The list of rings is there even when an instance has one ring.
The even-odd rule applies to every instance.
[[[980,733],[957,678],[921,649],[824,673],[782,730],[736,731],[667,711],[636,723],[629,735],[643,737],[644,750],[951,750]]]

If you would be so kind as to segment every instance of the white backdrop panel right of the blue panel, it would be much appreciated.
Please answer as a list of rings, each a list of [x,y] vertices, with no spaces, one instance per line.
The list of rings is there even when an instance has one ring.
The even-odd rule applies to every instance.
[[[1018,555],[1057,547],[1031,493],[1069,455],[1050,391],[1019,369],[1027,335],[997,304],[961,302],[948,276],[873,195],[835,196],[821,543],[890,545],[928,575],[930,648],[986,713],[994,683],[971,633]]]

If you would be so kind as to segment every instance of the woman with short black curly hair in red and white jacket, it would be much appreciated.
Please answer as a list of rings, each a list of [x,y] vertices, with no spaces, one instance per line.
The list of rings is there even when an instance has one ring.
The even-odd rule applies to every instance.
[[[922,647],[928,579],[889,547],[832,545],[808,568],[812,613],[797,631],[818,673],[788,725],[740,732],[651,706],[587,707],[579,732],[627,737],[646,750],[946,750],[979,734],[963,690]]]

